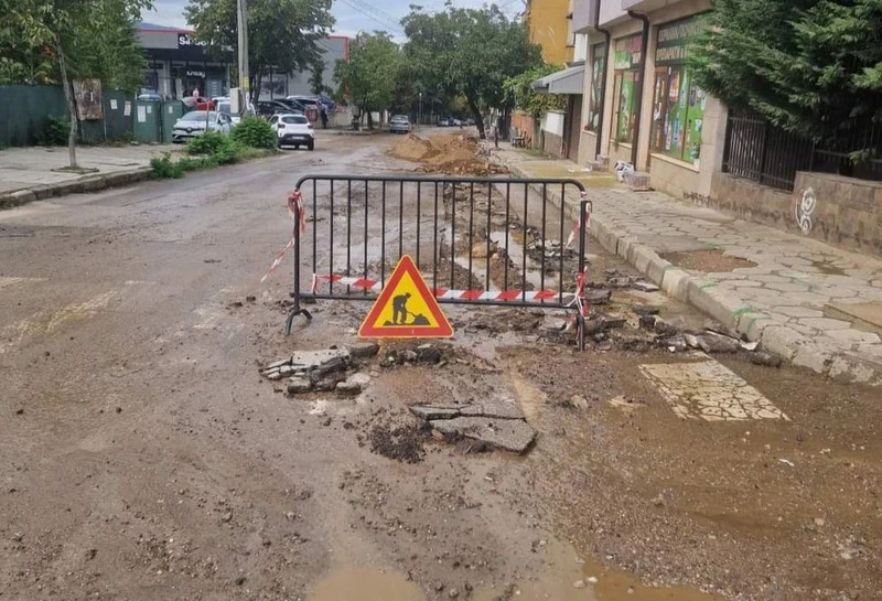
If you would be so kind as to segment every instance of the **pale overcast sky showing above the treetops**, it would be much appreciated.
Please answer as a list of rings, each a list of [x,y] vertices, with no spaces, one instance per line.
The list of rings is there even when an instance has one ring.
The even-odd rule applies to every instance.
[[[458,7],[480,7],[485,0],[454,0]],[[146,12],[143,20],[160,25],[186,26],[183,8],[187,0],[153,0],[155,9]],[[524,10],[524,0],[496,0],[510,17]],[[392,28],[405,17],[410,4],[420,4],[427,10],[440,10],[444,0],[334,0],[335,33],[353,36],[359,30],[384,30],[399,33]],[[400,36],[400,35],[399,35]]]

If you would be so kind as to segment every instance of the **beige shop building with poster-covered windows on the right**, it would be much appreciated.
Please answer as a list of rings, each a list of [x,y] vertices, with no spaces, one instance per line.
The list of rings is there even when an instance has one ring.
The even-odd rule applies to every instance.
[[[710,0],[576,0],[572,28],[588,36],[581,164],[624,161],[657,190],[710,195],[727,112],[687,64],[709,8]]]

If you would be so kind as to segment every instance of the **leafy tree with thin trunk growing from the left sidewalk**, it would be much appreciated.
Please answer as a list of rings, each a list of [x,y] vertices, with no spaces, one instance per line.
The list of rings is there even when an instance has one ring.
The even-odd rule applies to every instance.
[[[0,0],[0,83],[61,82],[71,117],[69,169],[76,161],[77,111],[72,79],[94,77],[133,92],[146,58],[135,21],[152,0]]]

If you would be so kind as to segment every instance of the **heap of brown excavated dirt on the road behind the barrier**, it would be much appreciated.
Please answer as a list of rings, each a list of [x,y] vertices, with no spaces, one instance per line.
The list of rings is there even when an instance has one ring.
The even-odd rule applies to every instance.
[[[474,175],[505,173],[505,170],[490,162],[475,138],[464,133],[445,133],[431,138],[408,133],[389,150],[389,154],[396,159],[422,163],[422,170],[430,172]]]

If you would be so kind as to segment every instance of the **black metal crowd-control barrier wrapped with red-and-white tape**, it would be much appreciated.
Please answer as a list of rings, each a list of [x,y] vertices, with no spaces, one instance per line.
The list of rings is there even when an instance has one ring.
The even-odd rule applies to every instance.
[[[576,219],[563,202],[571,189],[582,198]],[[410,255],[439,302],[573,310],[584,347],[591,202],[580,182],[306,175],[293,198],[288,334],[294,316],[311,319],[306,302],[373,301]]]

